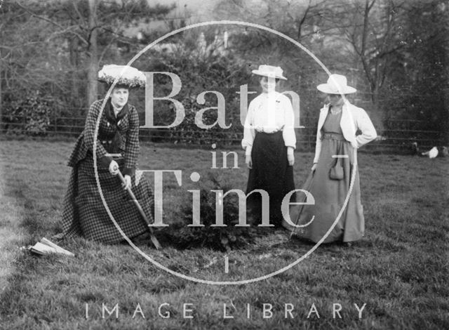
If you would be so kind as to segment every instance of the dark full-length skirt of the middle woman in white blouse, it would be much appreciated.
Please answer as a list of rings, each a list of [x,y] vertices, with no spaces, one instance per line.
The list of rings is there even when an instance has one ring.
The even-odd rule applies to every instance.
[[[288,165],[287,147],[282,131],[276,133],[256,133],[251,151],[253,169],[250,169],[246,194],[262,189],[269,194],[270,223],[281,225],[281,203],[283,197],[295,190],[293,166]],[[295,194],[291,200],[295,199]],[[262,218],[262,199],[253,193],[248,197],[248,208],[254,220]]]

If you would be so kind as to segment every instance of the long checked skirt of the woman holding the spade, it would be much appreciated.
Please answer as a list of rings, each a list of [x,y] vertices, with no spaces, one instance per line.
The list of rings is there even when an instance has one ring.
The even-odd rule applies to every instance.
[[[128,192],[121,187],[119,177],[112,176],[108,169],[101,168],[98,169],[98,176],[107,206],[125,235],[132,238],[144,233],[147,226]],[[153,193],[149,181],[142,176],[136,186],[133,176],[131,182],[136,199],[147,218],[152,221]],[[92,157],[79,161],[72,169],[62,209],[62,228],[65,237],[81,235],[107,244],[123,240],[100,198]]]

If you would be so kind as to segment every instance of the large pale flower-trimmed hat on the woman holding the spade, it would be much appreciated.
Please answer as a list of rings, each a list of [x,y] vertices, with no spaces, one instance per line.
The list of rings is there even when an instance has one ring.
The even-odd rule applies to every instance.
[[[98,81],[112,85],[117,79],[116,85],[128,88],[145,88],[147,79],[143,72],[128,65],[103,65],[98,72]]]

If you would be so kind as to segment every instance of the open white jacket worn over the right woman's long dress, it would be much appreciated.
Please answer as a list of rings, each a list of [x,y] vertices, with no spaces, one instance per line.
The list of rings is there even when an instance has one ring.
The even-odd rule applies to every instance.
[[[321,152],[321,128],[324,125],[324,121],[328,115],[329,105],[325,105],[320,110],[320,117],[318,119],[318,129],[316,131],[316,147],[314,163],[318,163]],[[351,124],[351,121],[354,124]],[[342,107],[342,119],[340,120],[340,127],[342,128],[344,139],[349,141],[355,148],[359,148],[362,145],[377,138],[376,130],[373,123],[368,117],[368,114],[361,107],[351,105],[346,101]],[[356,136],[356,131],[360,130],[362,133]]]

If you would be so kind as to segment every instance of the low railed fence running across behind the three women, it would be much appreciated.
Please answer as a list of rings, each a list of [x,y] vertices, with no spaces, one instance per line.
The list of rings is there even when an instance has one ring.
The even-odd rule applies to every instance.
[[[3,119],[0,132],[7,135],[39,135],[39,136],[73,136],[76,137],[83,131],[85,117],[56,117],[53,116],[46,123],[45,131],[29,131],[27,128],[29,118],[26,116],[15,116],[14,120]],[[316,138],[316,123],[302,122],[304,128],[297,128],[297,147],[301,150],[313,150]],[[388,128],[377,132],[380,137],[370,143],[369,149],[387,147],[396,150],[409,149],[413,142],[420,147],[431,147],[442,145],[443,138],[439,131],[426,131],[414,129],[420,127],[420,121],[410,119],[389,120]],[[243,128],[235,131],[206,131],[199,128],[192,129],[186,126],[176,128],[140,128],[140,139],[154,143],[179,143],[206,145],[216,143],[217,145],[239,145],[243,137]]]

